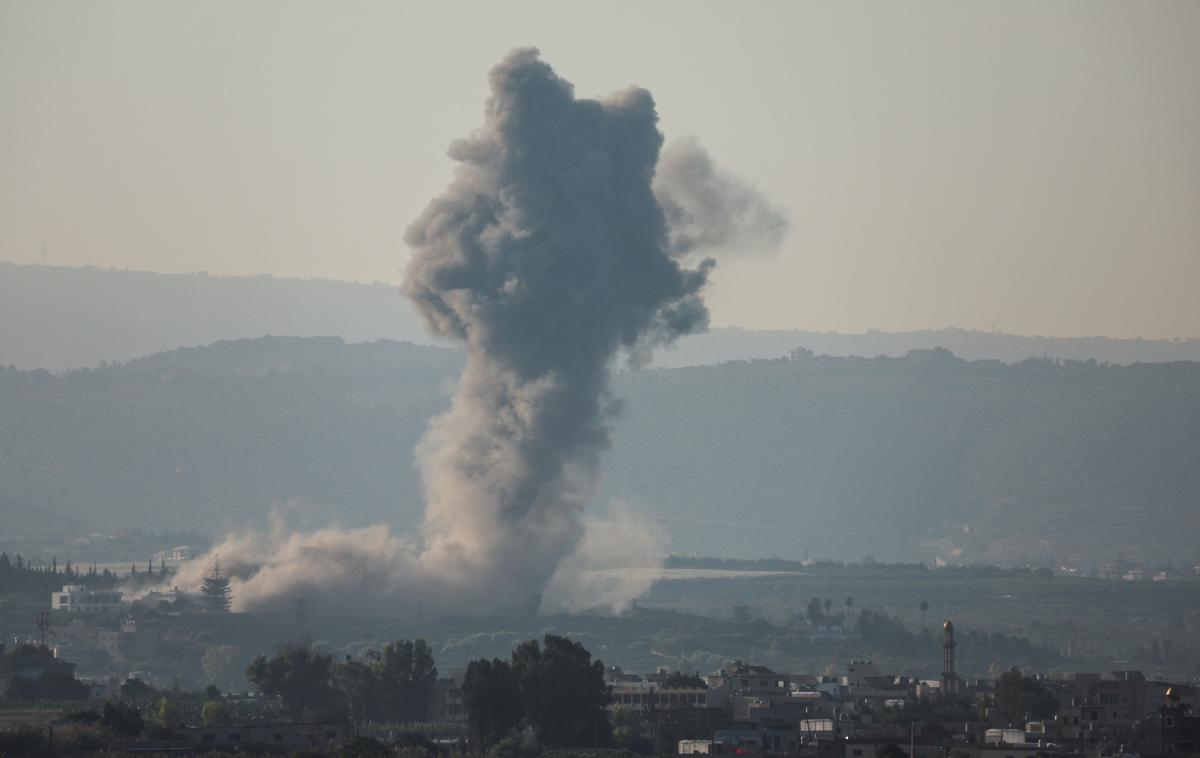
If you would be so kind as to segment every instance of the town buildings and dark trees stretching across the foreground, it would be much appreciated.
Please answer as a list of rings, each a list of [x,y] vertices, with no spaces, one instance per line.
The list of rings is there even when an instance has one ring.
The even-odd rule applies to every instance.
[[[452,644],[436,652],[424,638],[335,651],[328,643],[287,638],[289,631],[320,628],[310,625],[302,601],[278,614],[277,644],[256,645],[229,630],[268,621],[229,613],[232,590],[218,559],[198,591],[172,585],[172,566],[191,554],[186,546],[163,549],[120,576],[90,564],[59,566],[52,558],[30,565],[0,555],[8,596],[0,606],[0,753],[6,745],[37,744],[66,752],[102,745],[356,754],[367,746],[494,756],[622,750],[1020,758],[1187,756],[1200,747],[1194,680],[1117,667],[1048,675],[996,663],[962,674],[964,639],[968,646],[991,643],[980,634],[960,639],[952,619],[937,634],[925,630],[916,638],[926,666],[904,667],[937,675],[889,672],[864,657],[820,672],[734,658],[708,670],[659,666],[635,673],[605,666],[601,650],[548,632],[541,642],[500,640],[497,650],[508,646],[511,660],[467,660],[449,652]],[[29,591],[52,583],[54,589]],[[17,586],[25,591],[13,592]],[[838,640],[841,649],[863,644],[844,626],[846,600],[835,615],[830,603],[812,598],[797,633]],[[922,606],[924,615],[928,603]],[[749,619],[744,607],[732,614],[732,624],[770,626]],[[883,616],[862,614],[882,624]],[[1154,651],[1174,652],[1168,640]],[[554,693],[550,703],[542,690]]]

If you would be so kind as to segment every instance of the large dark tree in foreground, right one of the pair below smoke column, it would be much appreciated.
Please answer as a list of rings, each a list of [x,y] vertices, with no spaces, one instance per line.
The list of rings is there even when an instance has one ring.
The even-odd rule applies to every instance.
[[[577,642],[546,634],[512,651],[512,670],[521,685],[526,720],[551,747],[607,745],[608,687],[604,663]]]

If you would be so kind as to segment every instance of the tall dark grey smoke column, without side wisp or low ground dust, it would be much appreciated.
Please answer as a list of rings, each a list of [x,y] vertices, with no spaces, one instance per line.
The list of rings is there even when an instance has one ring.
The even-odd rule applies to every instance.
[[[425,441],[420,563],[460,595],[520,603],[580,541],[614,357],[707,326],[713,264],[672,255],[649,92],[576,98],[533,49],[490,82],[454,182],[408,230],[403,289],[467,345]]]

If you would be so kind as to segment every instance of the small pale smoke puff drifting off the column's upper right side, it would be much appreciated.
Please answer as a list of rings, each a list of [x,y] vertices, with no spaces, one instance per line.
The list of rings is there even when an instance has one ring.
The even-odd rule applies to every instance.
[[[666,212],[677,255],[697,248],[766,255],[787,236],[782,210],[721,170],[695,139],[672,143],[662,152],[654,194]]]

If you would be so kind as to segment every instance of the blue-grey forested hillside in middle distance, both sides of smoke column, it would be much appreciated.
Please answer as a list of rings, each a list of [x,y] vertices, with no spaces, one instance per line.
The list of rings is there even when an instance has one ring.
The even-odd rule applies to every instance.
[[[259,338],[0,371],[0,536],[420,517],[461,354]],[[815,357],[622,374],[605,499],[677,553],[1192,561],[1200,365]]]

